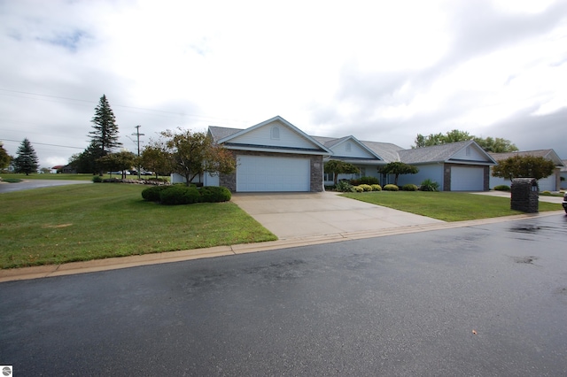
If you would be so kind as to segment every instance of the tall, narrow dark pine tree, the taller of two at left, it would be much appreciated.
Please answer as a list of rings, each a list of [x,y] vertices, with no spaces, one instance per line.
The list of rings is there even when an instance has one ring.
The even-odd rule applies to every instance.
[[[122,143],[118,141],[118,125],[114,117],[113,109],[106,96],[100,97],[97,107],[95,108],[95,116],[90,120],[93,124],[94,131],[89,132],[91,142],[100,150],[100,156],[106,156],[112,152],[114,148],[119,148]]]

